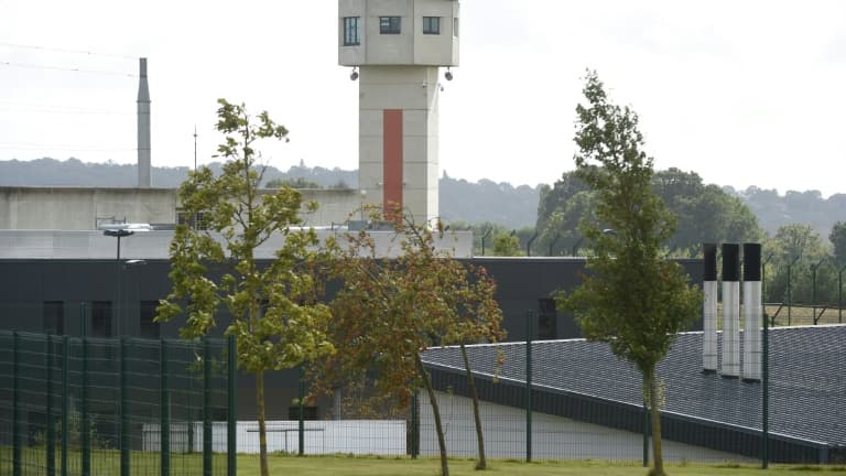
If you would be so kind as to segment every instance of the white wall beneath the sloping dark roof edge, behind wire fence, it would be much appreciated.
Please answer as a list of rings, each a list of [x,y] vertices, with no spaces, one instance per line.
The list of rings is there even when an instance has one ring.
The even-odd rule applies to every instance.
[[[471,400],[436,392],[451,456],[475,457],[478,452]],[[480,402],[485,454],[491,458],[525,458],[525,410]],[[420,451],[437,455],[432,405],[425,391],[420,392]],[[664,458],[670,462],[756,463],[733,453],[717,452],[671,441],[663,442]],[[533,459],[625,459],[640,461],[643,435],[546,413],[532,413]],[[651,456],[650,456],[651,457]]]

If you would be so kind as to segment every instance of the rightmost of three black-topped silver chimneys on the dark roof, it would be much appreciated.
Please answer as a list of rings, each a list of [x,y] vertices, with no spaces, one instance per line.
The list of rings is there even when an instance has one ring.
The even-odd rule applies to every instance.
[[[744,367],[745,381],[761,379],[761,245],[744,244]]]

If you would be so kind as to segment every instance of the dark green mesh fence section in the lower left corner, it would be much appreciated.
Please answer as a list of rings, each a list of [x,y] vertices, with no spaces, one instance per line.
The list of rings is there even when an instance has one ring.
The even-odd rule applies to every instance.
[[[234,475],[235,340],[0,332],[0,474]]]

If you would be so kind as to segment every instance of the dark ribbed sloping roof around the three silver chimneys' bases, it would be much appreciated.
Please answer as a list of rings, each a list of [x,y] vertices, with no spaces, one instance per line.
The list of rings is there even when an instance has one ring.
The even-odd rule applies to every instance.
[[[702,333],[679,335],[659,366],[664,415],[747,433],[760,431],[761,383],[703,374],[702,337]],[[722,333],[719,343],[722,347]],[[505,364],[497,371],[497,346],[468,347],[474,374],[482,380],[492,380],[497,374],[505,386],[524,386],[525,344],[509,343],[499,348],[505,353]],[[430,349],[423,359],[433,370],[464,372],[455,347]],[[825,446],[846,445],[846,326],[774,328],[770,332],[769,361],[770,432]],[[606,344],[584,339],[535,342],[532,365],[532,383],[539,391],[642,405],[640,374],[611,354]]]

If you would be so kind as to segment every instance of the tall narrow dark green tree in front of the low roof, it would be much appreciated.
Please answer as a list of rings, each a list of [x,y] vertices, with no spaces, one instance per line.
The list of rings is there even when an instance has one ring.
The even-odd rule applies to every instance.
[[[699,314],[702,296],[662,251],[675,218],[652,190],[652,159],[642,151],[637,113],[611,104],[595,72],[584,95],[588,105],[576,108],[574,159],[577,176],[596,194],[596,218],[581,225],[595,256],[582,284],[558,292],[556,301],[575,314],[589,340],[608,343],[642,374],[653,435],[650,475],[664,475],[655,367]]]

